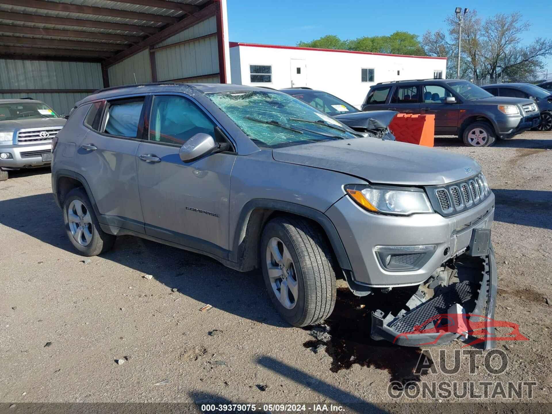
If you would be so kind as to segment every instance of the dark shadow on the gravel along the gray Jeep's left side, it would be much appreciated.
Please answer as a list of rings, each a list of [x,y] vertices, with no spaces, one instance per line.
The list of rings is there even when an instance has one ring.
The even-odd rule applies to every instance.
[[[0,201],[0,224],[75,253],[51,193]],[[241,273],[215,259],[139,237],[117,238],[102,258],[151,274],[178,294],[217,309],[273,326],[288,326],[272,307],[261,273]],[[86,259],[86,257],[82,257]]]

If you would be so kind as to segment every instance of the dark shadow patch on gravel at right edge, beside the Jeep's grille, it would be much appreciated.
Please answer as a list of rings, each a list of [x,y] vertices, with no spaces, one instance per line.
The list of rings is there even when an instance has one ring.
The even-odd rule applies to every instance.
[[[496,188],[492,192],[495,194],[495,221],[552,230],[552,192]]]

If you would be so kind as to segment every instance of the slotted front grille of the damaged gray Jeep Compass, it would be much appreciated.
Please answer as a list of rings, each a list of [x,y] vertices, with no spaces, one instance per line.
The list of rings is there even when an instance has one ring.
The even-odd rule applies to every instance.
[[[444,216],[474,208],[491,194],[482,174],[463,182],[426,187],[426,191],[434,210]]]

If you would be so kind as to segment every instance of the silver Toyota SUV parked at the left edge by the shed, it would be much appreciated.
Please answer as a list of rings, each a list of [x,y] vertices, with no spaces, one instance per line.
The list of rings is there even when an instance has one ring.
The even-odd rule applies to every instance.
[[[65,122],[40,100],[0,99],[0,181],[14,169],[49,166]]]

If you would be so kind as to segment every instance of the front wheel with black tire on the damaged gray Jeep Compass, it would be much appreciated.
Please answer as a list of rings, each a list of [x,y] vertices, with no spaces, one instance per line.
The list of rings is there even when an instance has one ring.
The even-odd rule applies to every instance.
[[[290,325],[326,319],[336,303],[335,263],[326,237],[311,221],[278,217],[264,227],[261,263],[268,295]]]

